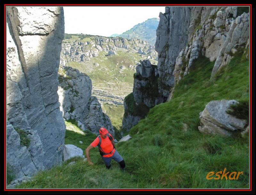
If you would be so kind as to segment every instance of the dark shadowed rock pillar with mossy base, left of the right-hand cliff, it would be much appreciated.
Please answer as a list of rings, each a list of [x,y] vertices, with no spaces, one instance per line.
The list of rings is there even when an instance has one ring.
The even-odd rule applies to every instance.
[[[156,66],[149,60],[141,60],[133,78],[132,93],[124,99],[124,117],[122,127],[129,131],[140,119],[144,118],[149,108],[161,103]],[[162,100],[163,101],[163,100]]]

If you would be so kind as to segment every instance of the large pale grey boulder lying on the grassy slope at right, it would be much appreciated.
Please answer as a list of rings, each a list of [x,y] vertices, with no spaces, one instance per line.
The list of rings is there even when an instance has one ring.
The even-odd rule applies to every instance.
[[[200,113],[201,126],[199,131],[207,134],[220,134],[231,136],[237,130],[244,130],[246,120],[237,119],[226,113],[230,105],[234,105],[235,100],[221,100],[209,102],[204,111]]]

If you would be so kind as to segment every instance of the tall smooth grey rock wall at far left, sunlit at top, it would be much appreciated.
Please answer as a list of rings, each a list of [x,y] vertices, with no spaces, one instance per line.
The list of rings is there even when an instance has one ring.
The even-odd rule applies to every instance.
[[[62,7],[7,9],[6,158],[15,178],[62,163],[65,123],[58,101]],[[16,130],[27,132],[29,146]]]

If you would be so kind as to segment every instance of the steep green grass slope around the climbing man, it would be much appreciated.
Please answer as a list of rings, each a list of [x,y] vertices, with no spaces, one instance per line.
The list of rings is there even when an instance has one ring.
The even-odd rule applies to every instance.
[[[233,58],[213,82],[209,79],[214,62],[197,59],[194,70],[176,86],[172,100],[150,109],[131,129],[132,139],[117,144],[126,162],[125,173],[116,162],[112,162],[112,170],[106,170],[93,149],[94,166],[76,159],[74,165],[64,163],[41,171],[33,182],[19,188],[248,188],[249,139],[198,131],[199,113],[211,100],[249,100],[249,63],[240,59]],[[82,139],[84,148],[93,140],[86,135],[71,141],[70,136],[66,135],[65,142],[79,146],[78,139]],[[224,168],[243,171],[243,175],[238,180],[205,178],[208,172]],[[97,179],[98,185],[90,182],[90,177]]]

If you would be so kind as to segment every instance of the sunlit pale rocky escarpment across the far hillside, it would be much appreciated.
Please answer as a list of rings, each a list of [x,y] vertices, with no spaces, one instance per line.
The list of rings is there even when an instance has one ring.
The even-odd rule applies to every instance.
[[[86,64],[92,58],[97,57],[101,51],[108,52],[108,55],[116,55],[116,51],[137,53],[140,47],[145,50],[141,54],[151,55],[152,58],[157,57],[154,46],[138,38],[90,36],[85,40],[81,38],[71,41],[65,39],[62,42],[60,64],[65,66],[66,63],[72,61]]]

